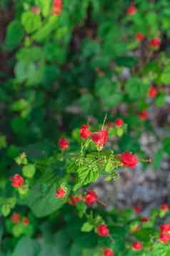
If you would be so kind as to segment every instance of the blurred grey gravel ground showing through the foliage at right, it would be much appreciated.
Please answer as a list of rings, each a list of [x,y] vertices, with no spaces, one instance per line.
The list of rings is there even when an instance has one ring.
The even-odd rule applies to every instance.
[[[141,148],[152,156],[159,143],[151,134],[144,133],[141,138]],[[102,179],[94,185],[102,201],[107,206],[133,207],[141,205],[147,214],[149,209],[159,207],[164,202],[169,202],[170,192],[170,161],[164,156],[158,170],[149,165],[146,169],[137,166],[136,169],[120,170],[118,181],[103,182]]]

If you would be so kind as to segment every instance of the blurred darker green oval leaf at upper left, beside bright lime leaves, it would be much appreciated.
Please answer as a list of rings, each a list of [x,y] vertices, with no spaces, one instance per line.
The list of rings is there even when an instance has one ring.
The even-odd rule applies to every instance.
[[[21,43],[24,32],[19,21],[14,20],[11,22],[6,31],[5,46],[10,51],[15,49]]]

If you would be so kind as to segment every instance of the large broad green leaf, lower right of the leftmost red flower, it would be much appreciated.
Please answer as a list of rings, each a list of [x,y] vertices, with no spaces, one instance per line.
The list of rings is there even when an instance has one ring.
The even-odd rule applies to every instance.
[[[36,184],[24,200],[37,218],[46,217],[64,206],[66,199],[57,199],[56,185]]]

